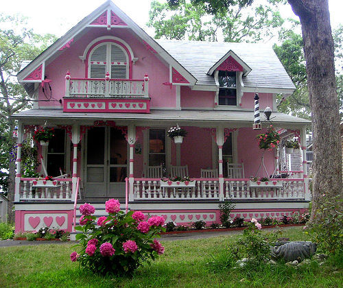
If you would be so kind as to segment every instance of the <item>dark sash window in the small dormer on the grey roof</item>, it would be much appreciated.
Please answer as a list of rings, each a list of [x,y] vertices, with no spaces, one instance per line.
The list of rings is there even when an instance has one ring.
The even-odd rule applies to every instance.
[[[219,105],[237,106],[237,73],[218,71]]]

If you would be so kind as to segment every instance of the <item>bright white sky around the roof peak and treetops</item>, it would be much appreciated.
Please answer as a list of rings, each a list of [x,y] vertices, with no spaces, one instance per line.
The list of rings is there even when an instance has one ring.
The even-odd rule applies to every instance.
[[[75,26],[85,16],[93,12],[105,0],[16,0],[1,1],[0,12],[5,15],[21,14],[28,17],[27,26],[37,34],[55,34],[60,37],[71,27]],[[165,0],[160,0],[165,2]],[[147,29],[145,24],[149,20],[150,3],[152,0],[113,0],[134,22],[146,30],[150,36],[154,29]],[[15,3],[15,4],[14,4]],[[343,0],[329,0],[331,26],[343,25]],[[281,11],[282,16],[297,17],[290,5]]]

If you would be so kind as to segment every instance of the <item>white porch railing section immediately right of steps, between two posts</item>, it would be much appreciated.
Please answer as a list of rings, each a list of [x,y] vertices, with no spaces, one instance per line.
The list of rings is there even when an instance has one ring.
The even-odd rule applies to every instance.
[[[161,179],[135,178],[134,200],[219,199],[219,180],[192,178],[194,187],[161,187]]]

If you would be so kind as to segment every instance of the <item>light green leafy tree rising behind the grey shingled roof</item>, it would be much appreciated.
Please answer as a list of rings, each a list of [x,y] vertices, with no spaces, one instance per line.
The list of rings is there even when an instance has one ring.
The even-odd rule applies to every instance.
[[[274,2],[277,0],[269,0]],[[217,41],[218,36],[226,42],[257,42],[271,36],[273,28],[281,27],[283,19],[269,5],[256,7],[233,5],[225,13],[209,14],[204,3],[192,5],[186,0],[153,1],[150,9],[149,27],[154,27],[155,38]]]

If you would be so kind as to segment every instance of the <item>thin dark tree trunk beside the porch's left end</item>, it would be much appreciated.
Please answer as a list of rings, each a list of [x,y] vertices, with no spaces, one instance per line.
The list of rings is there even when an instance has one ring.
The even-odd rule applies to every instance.
[[[15,138],[13,136],[13,132],[14,132],[14,126],[15,126],[15,122],[14,119],[9,119],[8,120],[8,124],[9,124],[9,128],[10,128],[10,145],[9,145],[9,149],[11,151],[9,151],[8,155],[9,155],[9,159],[8,159],[8,222],[9,223],[14,223],[14,211],[13,211],[13,202],[14,202],[14,187],[15,187],[15,178],[16,178],[16,158],[13,158],[12,154],[10,154],[10,152],[12,152],[12,149],[14,149],[16,142],[15,142]]]

